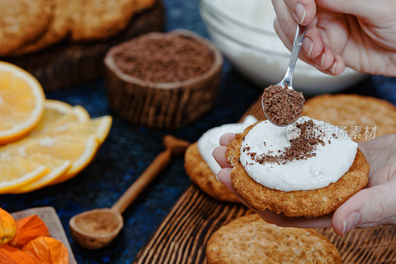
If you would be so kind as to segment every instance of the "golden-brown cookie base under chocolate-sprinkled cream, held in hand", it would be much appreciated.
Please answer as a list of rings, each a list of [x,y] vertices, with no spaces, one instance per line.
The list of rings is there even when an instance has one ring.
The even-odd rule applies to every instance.
[[[334,212],[349,197],[366,186],[370,166],[359,149],[347,173],[337,182],[330,183],[326,187],[284,192],[257,183],[247,174],[239,161],[243,137],[253,126],[237,134],[228,144],[226,157],[233,165],[232,188],[256,210],[269,209],[278,214],[283,213],[287,217],[319,217]]]

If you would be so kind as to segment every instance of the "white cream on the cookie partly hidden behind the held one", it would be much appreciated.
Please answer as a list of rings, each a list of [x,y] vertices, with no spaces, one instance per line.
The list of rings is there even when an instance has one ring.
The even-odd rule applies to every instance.
[[[198,152],[202,159],[209,166],[210,170],[216,175],[220,170],[220,166],[217,164],[212,156],[213,150],[220,146],[219,139],[225,133],[241,133],[254,123],[257,119],[253,116],[247,116],[244,122],[237,124],[225,124],[220,127],[215,127],[204,132],[198,139]]]

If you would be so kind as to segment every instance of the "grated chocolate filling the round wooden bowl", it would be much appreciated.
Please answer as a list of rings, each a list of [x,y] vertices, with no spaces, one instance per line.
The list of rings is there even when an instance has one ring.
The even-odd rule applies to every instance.
[[[186,35],[163,34],[140,37],[115,52],[118,68],[129,76],[153,83],[189,80],[207,72],[214,63],[208,46]]]

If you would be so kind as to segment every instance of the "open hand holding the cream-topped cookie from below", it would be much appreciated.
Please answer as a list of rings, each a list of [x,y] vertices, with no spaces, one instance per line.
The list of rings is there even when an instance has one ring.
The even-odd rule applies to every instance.
[[[220,146],[213,157],[223,168],[217,179],[237,195],[239,200],[262,219],[285,227],[316,228],[333,225],[334,231],[343,235],[354,227],[377,224],[396,224],[396,133],[358,142],[358,148],[370,164],[370,177],[366,189],[360,190],[340,206],[334,215],[317,218],[289,218],[270,210],[257,211],[231,187],[232,166],[225,153],[235,134],[220,138]]]

